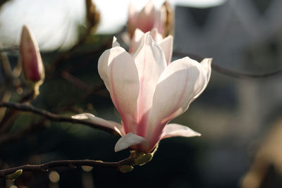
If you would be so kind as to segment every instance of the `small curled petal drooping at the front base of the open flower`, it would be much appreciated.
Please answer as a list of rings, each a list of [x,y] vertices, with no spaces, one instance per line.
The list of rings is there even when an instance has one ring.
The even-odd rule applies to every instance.
[[[127,149],[130,146],[146,143],[147,140],[145,138],[129,132],[125,136],[121,137],[121,139],[118,139],[118,142],[116,142],[115,151],[121,151],[123,149]]]

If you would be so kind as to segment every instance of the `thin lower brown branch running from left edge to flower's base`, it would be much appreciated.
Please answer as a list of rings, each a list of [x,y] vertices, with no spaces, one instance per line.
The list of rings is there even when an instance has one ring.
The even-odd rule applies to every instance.
[[[6,175],[11,175],[17,170],[23,170],[23,172],[33,171],[48,171],[51,168],[56,167],[67,167],[75,168],[77,166],[89,165],[92,167],[102,167],[102,168],[119,168],[123,165],[134,165],[134,158],[129,157],[125,158],[118,162],[103,162],[103,161],[94,161],[94,160],[66,160],[66,161],[51,161],[49,163],[44,163],[40,165],[21,165],[14,168],[7,168],[0,170],[0,177],[6,178]]]

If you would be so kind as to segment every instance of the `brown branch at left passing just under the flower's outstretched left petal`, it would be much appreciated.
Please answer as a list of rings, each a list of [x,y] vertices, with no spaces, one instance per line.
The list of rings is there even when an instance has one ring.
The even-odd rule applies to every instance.
[[[47,118],[49,120],[55,121],[55,122],[67,122],[67,123],[79,123],[82,125],[87,125],[92,128],[96,128],[99,130],[104,130],[106,132],[110,132],[111,134],[117,134],[114,130],[108,128],[108,127],[103,127],[102,125],[97,125],[94,123],[91,123],[90,121],[87,120],[77,120],[73,118],[68,118],[64,117],[61,115],[56,115],[54,113],[50,113],[49,111],[45,111],[39,108],[35,108],[34,106],[30,104],[18,104],[18,103],[13,103],[13,102],[4,102],[0,101],[0,108],[1,107],[6,107],[6,108],[13,108],[18,111],[27,111],[31,113],[35,113],[37,115],[41,115],[44,118]]]

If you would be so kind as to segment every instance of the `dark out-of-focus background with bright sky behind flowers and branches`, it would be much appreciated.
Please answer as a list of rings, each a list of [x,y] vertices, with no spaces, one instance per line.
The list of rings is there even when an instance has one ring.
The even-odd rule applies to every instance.
[[[97,61],[113,35],[126,47],[122,39],[129,1],[93,2],[101,22],[97,33],[85,37],[85,1],[3,1],[0,42],[13,68],[21,27],[29,25],[35,32],[47,72],[32,105],[60,115],[90,112],[120,121],[97,73]],[[138,8],[146,2],[133,1]],[[173,58],[214,58],[207,89],[173,120],[202,137],[165,139],[151,162],[127,174],[54,168],[51,175],[0,179],[0,187],[282,187],[282,1],[169,2],[176,19]],[[159,7],[163,1],[154,3]],[[1,100],[18,101],[27,87],[7,87],[2,66],[0,71]],[[276,74],[263,76],[269,73]],[[13,117],[9,132],[0,134],[1,168],[63,159],[118,161],[129,155],[114,152],[118,137],[70,123],[44,121],[46,126],[25,137],[3,139],[41,120],[31,113]]]

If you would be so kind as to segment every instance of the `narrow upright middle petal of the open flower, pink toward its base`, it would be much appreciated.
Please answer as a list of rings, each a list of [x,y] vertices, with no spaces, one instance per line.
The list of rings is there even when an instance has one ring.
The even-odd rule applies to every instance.
[[[149,32],[142,38],[142,44],[135,52],[133,59],[140,81],[137,100],[137,134],[145,137],[154,90],[159,76],[166,68],[166,59],[161,47],[153,41]]]

